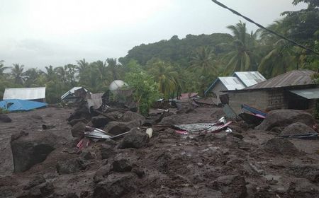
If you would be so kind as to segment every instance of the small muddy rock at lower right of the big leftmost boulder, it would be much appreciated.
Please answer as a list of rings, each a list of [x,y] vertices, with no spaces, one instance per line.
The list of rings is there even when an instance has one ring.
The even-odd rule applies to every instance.
[[[80,158],[72,158],[57,162],[56,167],[59,174],[77,173],[86,168],[86,163]]]

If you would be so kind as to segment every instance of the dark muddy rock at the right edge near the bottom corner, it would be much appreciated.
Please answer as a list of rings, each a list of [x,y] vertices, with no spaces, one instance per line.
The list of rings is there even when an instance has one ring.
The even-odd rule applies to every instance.
[[[319,165],[318,164],[295,164],[290,165],[288,173],[300,178],[306,178],[310,182],[319,182]]]

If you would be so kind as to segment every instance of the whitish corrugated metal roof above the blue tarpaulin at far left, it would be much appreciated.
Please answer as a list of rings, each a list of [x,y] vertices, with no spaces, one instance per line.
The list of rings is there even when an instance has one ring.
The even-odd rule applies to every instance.
[[[21,99],[36,100],[45,98],[45,87],[37,88],[6,88],[4,90],[4,100]]]

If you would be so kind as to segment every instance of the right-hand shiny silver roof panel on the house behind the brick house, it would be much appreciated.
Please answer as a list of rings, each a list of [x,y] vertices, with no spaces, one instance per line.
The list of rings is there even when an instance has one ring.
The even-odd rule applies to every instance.
[[[240,81],[245,86],[253,86],[262,81],[266,81],[266,78],[259,73],[259,71],[236,71],[233,76],[240,78]]]

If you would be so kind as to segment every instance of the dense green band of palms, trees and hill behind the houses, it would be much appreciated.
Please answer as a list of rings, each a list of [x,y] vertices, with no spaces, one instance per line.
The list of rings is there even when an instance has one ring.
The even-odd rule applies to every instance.
[[[293,4],[301,2],[308,8],[286,11],[284,18],[268,28],[319,52],[319,1],[294,0]],[[233,71],[259,70],[270,78],[292,69],[318,70],[318,55],[265,30],[250,33],[242,21],[227,28],[231,35],[187,35],[183,39],[174,35],[169,40],[142,44],[119,62],[106,59],[89,63],[82,59],[77,64],[45,66],[42,71],[25,70],[21,64],[6,66],[1,61],[0,95],[9,87],[46,86],[47,102],[57,103],[73,86],[100,92],[106,91],[111,81],[125,79],[135,91],[142,90],[135,92],[135,97],[147,107],[159,93],[165,98],[189,91],[202,94],[216,76]]]

